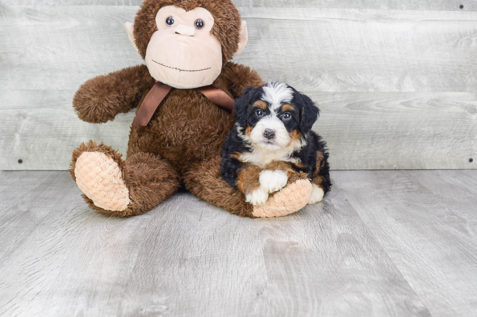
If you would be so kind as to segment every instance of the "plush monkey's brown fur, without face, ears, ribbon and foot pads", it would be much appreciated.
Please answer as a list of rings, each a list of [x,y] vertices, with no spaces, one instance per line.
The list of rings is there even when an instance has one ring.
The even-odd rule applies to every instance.
[[[136,45],[145,56],[156,31],[155,16],[165,5],[186,10],[201,6],[215,18],[212,32],[222,44],[224,65],[214,85],[237,99],[248,85],[263,84],[249,67],[228,62],[238,49],[240,16],[230,0],[146,0],[135,19]],[[78,117],[92,123],[112,120],[139,106],[153,85],[144,65],[98,76],[84,83],[73,100]],[[90,141],[73,152],[73,180],[77,158],[84,151],[100,151],[118,163],[132,203],[123,212],[88,205],[109,216],[140,215],[177,191],[181,186],[192,194],[233,214],[252,216],[253,207],[242,193],[220,177],[221,147],[234,124],[233,116],[219,109],[196,89],[172,89],[146,127],[132,126],[127,159],[104,144]]]

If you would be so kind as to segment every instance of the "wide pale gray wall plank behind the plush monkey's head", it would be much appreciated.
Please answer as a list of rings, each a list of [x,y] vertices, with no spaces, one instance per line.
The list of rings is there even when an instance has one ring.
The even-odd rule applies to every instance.
[[[123,27],[135,10],[2,6],[2,88],[71,89],[141,63]],[[477,85],[476,12],[244,8],[242,15],[250,40],[237,61],[266,80],[328,92],[473,91]]]

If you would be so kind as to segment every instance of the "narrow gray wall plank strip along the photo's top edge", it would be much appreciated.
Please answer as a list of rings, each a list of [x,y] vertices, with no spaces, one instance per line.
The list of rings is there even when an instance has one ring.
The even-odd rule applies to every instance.
[[[2,0],[3,4],[18,5],[112,5],[139,6],[143,0]],[[302,7],[393,10],[476,10],[476,0],[233,0],[238,7]],[[464,3],[464,8],[460,5]]]

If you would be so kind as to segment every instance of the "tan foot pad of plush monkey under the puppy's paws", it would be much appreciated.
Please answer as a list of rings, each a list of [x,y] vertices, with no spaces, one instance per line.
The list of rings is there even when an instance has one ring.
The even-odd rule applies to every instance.
[[[261,206],[254,206],[252,215],[260,218],[281,217],[292,214],[307,205],[313,187],[308,180],[288,184]]]

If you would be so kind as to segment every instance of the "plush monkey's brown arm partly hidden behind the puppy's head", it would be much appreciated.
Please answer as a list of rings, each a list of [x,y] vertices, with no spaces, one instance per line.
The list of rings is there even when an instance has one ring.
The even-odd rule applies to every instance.
[[[244,65],[228,62],[223,67],[223,75],[234,98],[240,98],[246,86],[259,87],[264,84],[258,73]]]

